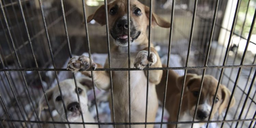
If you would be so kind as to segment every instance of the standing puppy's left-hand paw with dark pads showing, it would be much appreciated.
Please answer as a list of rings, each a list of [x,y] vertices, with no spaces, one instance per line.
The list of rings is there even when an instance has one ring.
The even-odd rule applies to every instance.
[[[93,62],[92,60],[92,66],[90,65],[90,59],[86,56],[74,56],[69,60],[68,63],[68,70],[71,70],[72,72],[78,72],[78,71],[86,71],[88,69],[96,69],[97,64]]]

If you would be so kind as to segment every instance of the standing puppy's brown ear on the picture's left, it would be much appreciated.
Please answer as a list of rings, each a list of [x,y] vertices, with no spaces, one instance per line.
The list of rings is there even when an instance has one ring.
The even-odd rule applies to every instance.
[[[106,24],[106,15],[105,15],[104,5],[101,5],[100,8],[98,8],[94,14],[88,16],[87,23],[89,23],[93,19],[102,26]]]

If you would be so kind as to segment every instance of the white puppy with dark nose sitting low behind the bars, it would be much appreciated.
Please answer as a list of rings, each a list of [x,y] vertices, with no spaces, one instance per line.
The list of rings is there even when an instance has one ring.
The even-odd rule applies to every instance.
[[[82,122],[82,116],[80,113],[80,109],[83,112],[83,118],[84,122],[87,123],[95,123],[94,118],[91,116],[90,112],[88,111],[88,98],[87,98],[87,91],[88,87],[93,87],[93,84],[91,82],[90,78],[79,78],[77,79],[77,88],[78,92],[76,91],[75,82],[74,79],[67,79],[62,82],[60,82],[60,87],[62,91],[63,101],[65,102],[65,106],[67,109],[67,117],[68,122]],[[80,103],[78,102],[77,93],[80,96]],[[56,85],[54,88],[51,88],[46,91],[46,96],[49,102],[49,107],[51,111],[57,110],[58,114],[54,116],[55,122],[67,122],[66,114],[64,111],[62,98],[60,96],[60,91],[58,88],[58,85]],[[81,106],[80,106],[81,105]],[[46,104],[46,100],[44,95],[40,98],[39,101],[39,116],[41,114],[41,111],[43,109],[48,109],[48,106]],[[52,121],[52,118],[50,117],[48,121]],[[68,127],[67,124],[55,124],[57,128],[65,128]],[[44,128],[51,128],[54,127],[53,124],[45,124],[43,126]],[[75,125],[70,124],[71,128],[83,128],[83,125]],[[85,125],[86,128],[98,128],[98,125]]]

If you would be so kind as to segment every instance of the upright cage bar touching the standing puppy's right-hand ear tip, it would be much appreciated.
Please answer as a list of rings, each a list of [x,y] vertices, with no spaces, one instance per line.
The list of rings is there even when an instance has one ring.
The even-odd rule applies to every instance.
[[[174,19],[174,5],[175,5],[175,0],[172,0],[171,27],[170,27],[170,33],[169,33],[169,46],[168,46],[167,67],[169,67],[169,60],[170,60],[170,54],[171,54],[172,30],[173,30],[173,19]],[[164,113],[164,110],[165,110],[168,75],[169,75],[169,72],[168,72],[168,70],[166,70],[165,91],[163,93],[163,107],[162,107],[162,116],[161,116],[160,128],[162,128],[163,113]]]

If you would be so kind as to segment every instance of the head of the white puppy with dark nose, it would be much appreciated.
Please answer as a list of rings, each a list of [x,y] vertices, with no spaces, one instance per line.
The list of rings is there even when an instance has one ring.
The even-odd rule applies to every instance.
[[[92,86],[93,85],[91,80],[86,77],[77,79],[78,92],[75,87],[74,79],[67,79],[60,82],[62,98],[60,96],[58,85],[46,91],[46,97],[49,102],[50,109],[57,110],[61,118],[63,120],[66,120],[65,110],[62,103],[63,100],[67,109],[68,121],[72,122],[77,118],[81,118],[80,109],[82,110],[82,112],[88,111],[88,99],[86,95],[86,90],[87,88],[90,88]],[[81,106],[78,102],[77,93],[80,96]],[[43,95],[39,101],[39,116],[41,114],[41,111],[47,108],[48,106],[45,100],[45,96]]]

